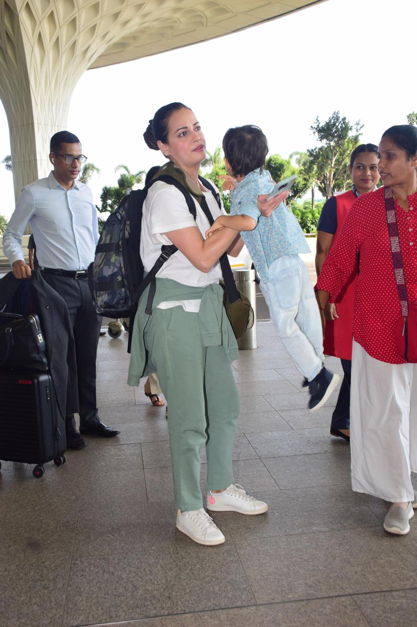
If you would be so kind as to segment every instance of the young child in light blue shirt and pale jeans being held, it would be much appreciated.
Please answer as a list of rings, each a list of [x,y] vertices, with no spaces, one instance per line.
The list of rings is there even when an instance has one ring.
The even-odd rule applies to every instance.
[[[274,182],[264,170],[268,143],[262,130],[246,125],[229,129],[223,139],[225,166],[237,184],[230,197],[230,216],[220,216],[206,233],[227,227],[240,231],[260,277],[277,336],[309,386],[309,411],[326,403],[339,376],[323,365],[322,326],[314,290],[299,253],[309,253],[304,233],[281,203],[270,218],[257,207],[260,194]]]

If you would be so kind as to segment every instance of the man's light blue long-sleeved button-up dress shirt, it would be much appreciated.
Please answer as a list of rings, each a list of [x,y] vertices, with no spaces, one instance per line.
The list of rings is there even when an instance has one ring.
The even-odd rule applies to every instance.
[[[97,210],[91,189],[74,181],[70,189],[53,172],[23,187],[3,233],[3,252],[10,263],[23,259],[22,236],[30,223],[36,256],[44,268],[86,270],[98,242]]]

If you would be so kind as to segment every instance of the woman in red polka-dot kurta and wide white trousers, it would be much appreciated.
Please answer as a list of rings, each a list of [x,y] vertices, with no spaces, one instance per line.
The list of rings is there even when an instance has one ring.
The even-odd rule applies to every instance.
[[[408,299],[417,302],[417,128],[391,127],[379,144],[378,170],[392,189]],[[417,492],[417,364],[396,350],[401,316],[388,235],[384,187],[358,198],[322,266],[317,297],[326,319],[360,253],[353,318],[352,487],[391,501],[384,529],[407,534]]]

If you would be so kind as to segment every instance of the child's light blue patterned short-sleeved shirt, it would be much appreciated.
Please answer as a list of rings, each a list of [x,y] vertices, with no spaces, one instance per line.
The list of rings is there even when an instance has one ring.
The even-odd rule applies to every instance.
[[[258,196],[269,194],[274,183],[267,170],[250,172],[238,183],[230,196],[230,213],[245,215],[257,221],[253,231],[241,231],[255,268],[263,282],[269,281],[269,266],[284,255],[309,253],[302,228],[296,216],[281,203],[270,218],[264,218],[258,209]]]

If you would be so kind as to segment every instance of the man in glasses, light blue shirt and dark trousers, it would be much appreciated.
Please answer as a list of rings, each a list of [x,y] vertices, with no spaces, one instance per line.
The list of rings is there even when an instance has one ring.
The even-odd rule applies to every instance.
[[[3,251],[19,279],[31,277],[24,262],[22,236],[28,223],[36,241],[36,255],[46,282],[68,305],[76,343],[80,433],[111,437],[120,431],[101,423],[96,407],[96,356],[101,319],[95,312],[87,269],[94,260],[98,221],[90,187],[77,181],[81,164],[80,140],[68,131],[51,138],[53,171],[23,187],[3,234]],[[67,444],[83,448],[74,416],[66,416]]]

